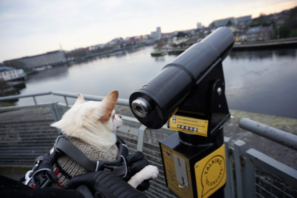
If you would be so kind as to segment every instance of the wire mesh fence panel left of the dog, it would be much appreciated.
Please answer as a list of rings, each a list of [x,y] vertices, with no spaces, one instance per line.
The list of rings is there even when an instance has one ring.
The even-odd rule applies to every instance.
[[[31,167],[47,153],[59,134],[52,113],[51,105],[1,109],[0,165]]]

